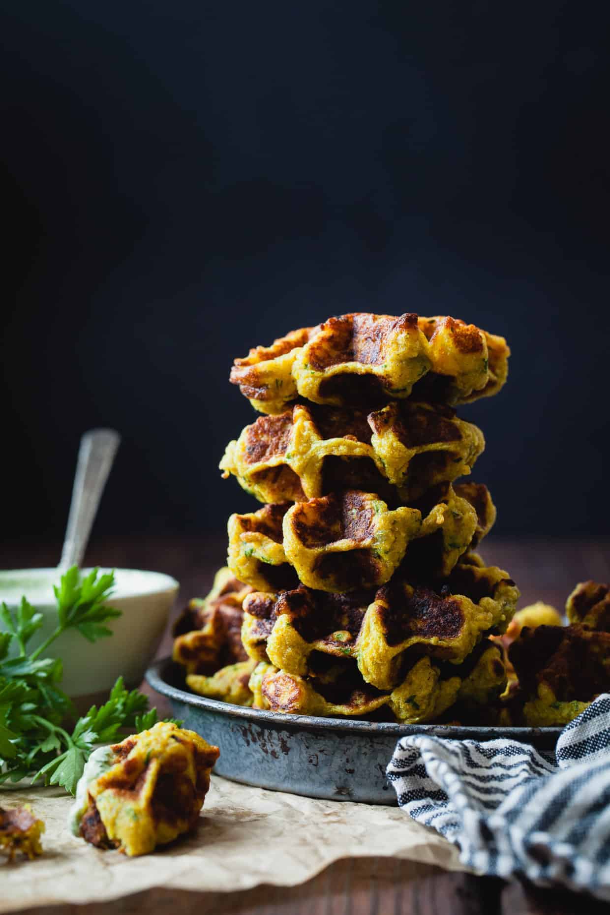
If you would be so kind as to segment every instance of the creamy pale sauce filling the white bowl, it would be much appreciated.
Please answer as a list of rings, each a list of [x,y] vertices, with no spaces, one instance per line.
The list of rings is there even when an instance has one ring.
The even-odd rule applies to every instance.
[[[112,569],[100,569],[101,572],[111,572]],[[143,594],[153,594],[156,591],[166,591],[176,587],[176,582],[170,576],[161,572],[145,572],[142,569],[114,569],[114,587],[112,598],[136,597]],[[87,575],[91,569],[82,569],[82,574]],[[56,568],[45,569],[16,569],[0,572],[0,601],[8,606],[16,606],[25,595],[30,604],[35,607],[43,604],[54,604],[55,595],[53,585],[59,585],[61,570]]]

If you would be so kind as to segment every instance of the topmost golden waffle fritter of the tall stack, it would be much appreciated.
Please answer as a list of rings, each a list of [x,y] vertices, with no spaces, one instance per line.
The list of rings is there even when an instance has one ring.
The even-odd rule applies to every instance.
[[[420,400],[459,404],[497,393],[508,355],[503,338],[455,318],[355,313],[250,350],[235,360],[230,381],[266,414],[283,413],[297,397],[382,404],[409,397],[413,385]]]

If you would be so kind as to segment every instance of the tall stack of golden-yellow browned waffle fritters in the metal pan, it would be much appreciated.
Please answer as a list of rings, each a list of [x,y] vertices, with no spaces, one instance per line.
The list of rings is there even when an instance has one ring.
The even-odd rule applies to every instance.
[[[504,339],[454,318],[353,314],[235,361],[261,415],[220,463],[263,502],[177,627],[195,692],[241,705],[450,720],[507,682],[519,597],[474,552],[496,510],[455,483],[485,447],[455,406],[497,393]]]

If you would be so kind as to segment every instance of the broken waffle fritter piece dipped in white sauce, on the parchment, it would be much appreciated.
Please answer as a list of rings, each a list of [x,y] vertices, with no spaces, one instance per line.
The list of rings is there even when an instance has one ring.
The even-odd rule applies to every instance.
[[[128,856],[191,831],[219,748],[169,722],[94,750],[70,813],[72,833]]]

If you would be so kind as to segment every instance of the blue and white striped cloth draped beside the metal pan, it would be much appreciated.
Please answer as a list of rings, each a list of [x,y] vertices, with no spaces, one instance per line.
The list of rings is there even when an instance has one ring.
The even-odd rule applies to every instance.
[[[515,740],[402,737],[388,778],[401,808],[494,877],[610,900],[610,695],[563,728],[555,753]]]

